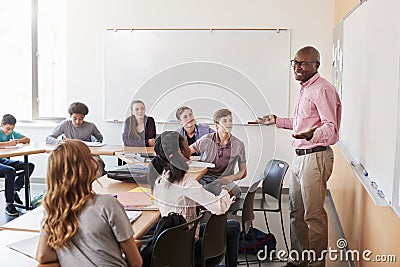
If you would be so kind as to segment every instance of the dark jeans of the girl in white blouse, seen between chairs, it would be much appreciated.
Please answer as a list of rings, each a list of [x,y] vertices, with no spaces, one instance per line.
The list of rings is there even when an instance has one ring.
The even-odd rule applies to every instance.
[[[204,228],[206,224],[203,223],[200,225],[200,234],[199,236],[203,236]],[[238,247],[239,247],[239,234],[240,234],[240,223],[237,220],[227,220],[226,221],[226,254],[228,256],[228,265],[229,267],[237,266],[237,257],[238,257]],[[195,247],[195,257],[196,264],[201,262],[201,240],[197,240]]]

